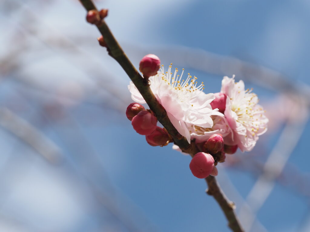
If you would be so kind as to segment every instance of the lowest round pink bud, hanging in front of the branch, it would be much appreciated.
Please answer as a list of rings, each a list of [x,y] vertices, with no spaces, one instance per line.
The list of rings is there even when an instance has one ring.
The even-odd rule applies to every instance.
[[[198,152],[194,155],[189,164],[189,168],[193,175],[197,178],[206,178],[209,176],[214,167],[214,159],[208,153]]]

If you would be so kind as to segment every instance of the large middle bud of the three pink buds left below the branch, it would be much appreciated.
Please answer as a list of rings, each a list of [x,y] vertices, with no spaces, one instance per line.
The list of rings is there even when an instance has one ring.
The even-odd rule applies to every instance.
[[[155,131],[157,118],[147,110],[140,111],[131,120],[131,125],[140,135],[150,135]]]

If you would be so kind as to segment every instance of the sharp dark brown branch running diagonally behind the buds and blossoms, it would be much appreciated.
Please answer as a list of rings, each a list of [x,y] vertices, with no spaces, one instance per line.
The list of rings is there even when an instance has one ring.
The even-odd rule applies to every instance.
[[[94,3],[91,0],[80,0],[86,11],[97,10]],[[166,110],[159,104],[153,92],[151,91],[149,84],[135,69],[130,62],[121,46],[114,38],[112,32],[108,28],[108,25],[101,20],[100,24],[96,25],[101,35],[104,37],[104,41],[107,44],[109,54],[120,64],[126,74],[135,84],[136,88],[141,93],[142,97],[148,104],[149,108],[156,114],[158,121],[166,128],[169,134],[172,136],[174,143],[184,152],[190,154],[192,157],[199,152],[194,142],[188,144],[187,140],[179,134],[175,127],[170,122]],[[215,200],[219,203],[220,207],[224,211],[224,214],[228,220],[228,226],[234,232],[242,232],[241,225],[237,219],[237,216],[233,210],[233,204],[227,199],[224,193],[221,191],[217,184],[215,177],[209,176],[206,178],[209,190],[208,193],[213,195]]]

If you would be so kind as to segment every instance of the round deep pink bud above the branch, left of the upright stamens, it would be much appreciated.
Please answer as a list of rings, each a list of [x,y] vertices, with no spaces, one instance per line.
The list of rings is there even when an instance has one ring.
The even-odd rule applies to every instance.
[[[148,54],[142,58],[139,70],[145,76],[154,76],[160,68],[160,59],[154,54]]]

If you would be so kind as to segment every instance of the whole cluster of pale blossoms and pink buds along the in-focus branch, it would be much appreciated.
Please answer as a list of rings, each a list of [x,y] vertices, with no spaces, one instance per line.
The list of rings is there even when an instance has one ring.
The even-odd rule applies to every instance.
[[[139,69],[173,126],[201,151],[189,165],[198,178],[217,175],[216,165],[225,161],[226,154],[236,153],[238,148],[242,152],[252,150],[259,135],[267,131],[268,118],[257,95],[252,89],[245,90],[242,80],[235,82],[234,76],[223,78],[220,92],[205,93],[204,83],[198,84],[196,76],[185,75],[184,69],[180,74],[178,68],[173,72],[172,63],[165,71],[156,55],[142,58]],[[164,128],[157,127],[156,115],[142,109],[140,104],[146,101],[132,81],[128,89],[136,101],[126,111],[134,129],[146,135],[152,146],[173,142]],[[181,151],[177,145],[173,149]]]

